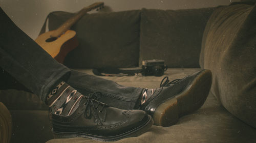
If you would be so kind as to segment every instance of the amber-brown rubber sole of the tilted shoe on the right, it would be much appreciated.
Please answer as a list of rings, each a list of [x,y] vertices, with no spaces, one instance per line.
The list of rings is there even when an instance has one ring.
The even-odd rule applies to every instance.
[[[211,80],[210,70],[204,70],[182,93],[161,103],[153,115],[155,125],[172,126],[182,116],[199,109],[209,94]]]

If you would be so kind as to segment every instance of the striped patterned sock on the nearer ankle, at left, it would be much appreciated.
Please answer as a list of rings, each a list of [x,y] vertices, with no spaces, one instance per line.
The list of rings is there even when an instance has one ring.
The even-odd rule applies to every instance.
[[[62,81],[47,96],[47,102],[52,113],[70,116],[79,106],[82,97],[82,94]]]

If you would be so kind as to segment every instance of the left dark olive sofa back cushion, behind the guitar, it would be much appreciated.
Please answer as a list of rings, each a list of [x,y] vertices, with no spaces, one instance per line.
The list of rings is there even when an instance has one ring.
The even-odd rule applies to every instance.
[[[50,13],[49,30],[55,30],[73,15]],[[70,68],[136,67],[139,28],[140,10],[84,15],[71,27],[79,45],[67,55],[64,64]]]

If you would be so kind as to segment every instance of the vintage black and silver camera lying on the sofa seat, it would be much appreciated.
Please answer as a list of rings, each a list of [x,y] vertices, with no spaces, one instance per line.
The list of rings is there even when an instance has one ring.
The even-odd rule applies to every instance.
[[[167,70],[167,66],[164,65],[164,60],[146,60],[142,61],[142,75],[155,75],[161,76],[164,71]]]

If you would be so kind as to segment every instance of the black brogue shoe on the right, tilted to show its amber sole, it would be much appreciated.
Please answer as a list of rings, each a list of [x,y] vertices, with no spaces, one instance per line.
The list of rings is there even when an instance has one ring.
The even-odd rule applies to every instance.
[[[163,78],[160,88],[145,100],[139,109],[151,115],[155,125],[168,127],[205,102],[211,87],[210,70],[201,70],[182,79]]]

